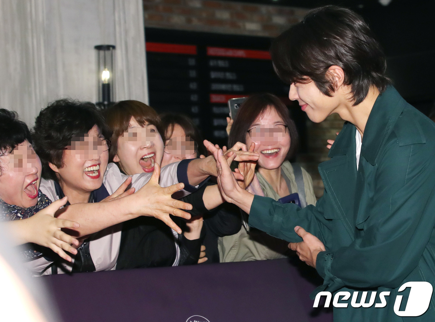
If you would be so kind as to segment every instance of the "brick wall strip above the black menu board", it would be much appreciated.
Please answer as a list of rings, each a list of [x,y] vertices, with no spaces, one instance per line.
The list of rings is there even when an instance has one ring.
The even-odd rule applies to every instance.
[[[145,27],[276,37],[307,9],[216,0],[144,0]]]

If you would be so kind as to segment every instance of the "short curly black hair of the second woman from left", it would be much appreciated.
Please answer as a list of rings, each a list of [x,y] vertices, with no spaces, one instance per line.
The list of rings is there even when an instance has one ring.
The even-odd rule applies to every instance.
[[[104,139],[110,139],[104,117],[94,103],[64,99],[40,111],[33,127],[33,148],[41,159],[42,177],[57,181],[48,163],[64,166],[64,149],[71,139],[88,133],[96,125]]]

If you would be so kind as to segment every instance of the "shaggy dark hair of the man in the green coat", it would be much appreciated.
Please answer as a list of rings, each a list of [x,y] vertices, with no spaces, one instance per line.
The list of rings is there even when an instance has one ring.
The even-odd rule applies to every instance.
[[[352,10],[324,6],[310,10],[304,19],[278,36],[271,46],[274,69],[284,82],[308,83],[309,77],[327,96],[334,93],[328,68],[345,72],[353,105],[361,103],[371,86],[383,93],[391,83],[386,61],[362,17]]]

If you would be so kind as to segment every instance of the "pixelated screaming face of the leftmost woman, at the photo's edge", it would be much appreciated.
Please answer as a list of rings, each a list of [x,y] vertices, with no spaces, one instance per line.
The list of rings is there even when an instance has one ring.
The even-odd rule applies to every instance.
[[[22,208],[35,206],[41,177],[41,162],[25,140],[6,156],[0,156],[0,198]]]

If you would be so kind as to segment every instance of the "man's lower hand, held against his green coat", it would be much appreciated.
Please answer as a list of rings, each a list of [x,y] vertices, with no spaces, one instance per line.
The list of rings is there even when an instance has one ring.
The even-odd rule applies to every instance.
[[[317,255],[319,252],[325,252],[325,245],[316,236],[306,232],[302,227],[296,226],[294,231],[303,241],[291,242],[288,244],[288,248],[295,250],[301,261],[316,268]]]

